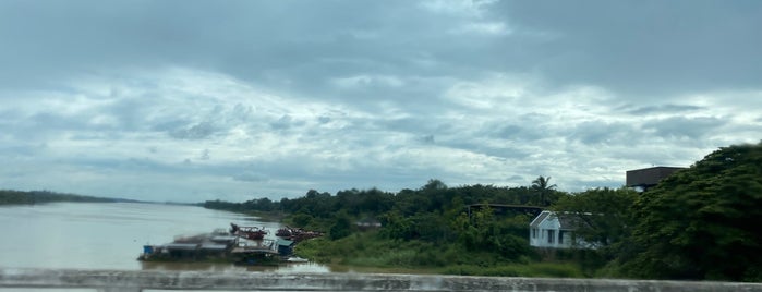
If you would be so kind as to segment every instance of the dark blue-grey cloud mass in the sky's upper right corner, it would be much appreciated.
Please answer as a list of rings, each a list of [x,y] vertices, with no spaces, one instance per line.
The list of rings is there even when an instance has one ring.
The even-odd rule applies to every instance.
[[[605,84],[653,100],[665,93],[758,87],[762,81],[758,1],[504,1],[496,7],[491,15],[518,29],[555,35],[522,46],[532,51],[530,59],[540,60],[531,65],[555,83]]]

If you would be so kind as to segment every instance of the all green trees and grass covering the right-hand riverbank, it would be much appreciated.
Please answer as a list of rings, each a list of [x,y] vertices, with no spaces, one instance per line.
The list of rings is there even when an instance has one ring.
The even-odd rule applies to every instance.
[[[528,277],[762,281],[762,143],[723,147],[653,190],[566,193],[540,177],[530,186],[430,180],[418,190],[309,191],[271,202],[207,202],[207,208],[286,214],[327,232],[297,253],[318,263],[382,270]],[[527,214],[471,204],[533,205],[577,216],[574,236],[596,250],[529,245]],[[373,226],[380,223],[380,228]],[[367,223],[367,224],[358,224]]]

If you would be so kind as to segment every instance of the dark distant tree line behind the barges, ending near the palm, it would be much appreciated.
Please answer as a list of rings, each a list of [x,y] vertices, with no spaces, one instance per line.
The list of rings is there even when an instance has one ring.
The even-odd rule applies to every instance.
[[[298,198],[282,198],[279,202],[267,197],[243,203],[207,200],[202,205],[210,209],[232,211],[283,211],[293,215],[309,215],[313,218],[331,218],[339,211],[352,217],[377,217],[394,211],[403,217],[424,212],[443,212],[462,209],[464,205],[484,202],[500,204],[551,206],[566,193],[548,185],[551,178],[540,177],[531,186],[507,187],[495,185],[462,185],[448,187],[437,179],[430,180],[418,190],[404,188],[397,193],[378,188],[344,190],[336,195],[310,190]]]

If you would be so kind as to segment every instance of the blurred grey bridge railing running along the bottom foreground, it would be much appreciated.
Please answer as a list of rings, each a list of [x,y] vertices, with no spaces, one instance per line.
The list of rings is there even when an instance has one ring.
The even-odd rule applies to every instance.
[[[232,291],[762,291],[762,283],[378,273],[265,273],[0,268],[0,288],[104,292]]]

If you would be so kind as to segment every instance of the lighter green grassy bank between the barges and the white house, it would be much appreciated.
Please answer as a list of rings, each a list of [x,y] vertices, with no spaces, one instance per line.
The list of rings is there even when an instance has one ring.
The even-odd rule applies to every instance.
[[[535,261],[529,257],[509,261],[491,252],[379,239],[375,232],[353,233],[338,241],[309,240],[298,244],[295,253],[337,271],[585,278],[582,269],[570,261]]]

